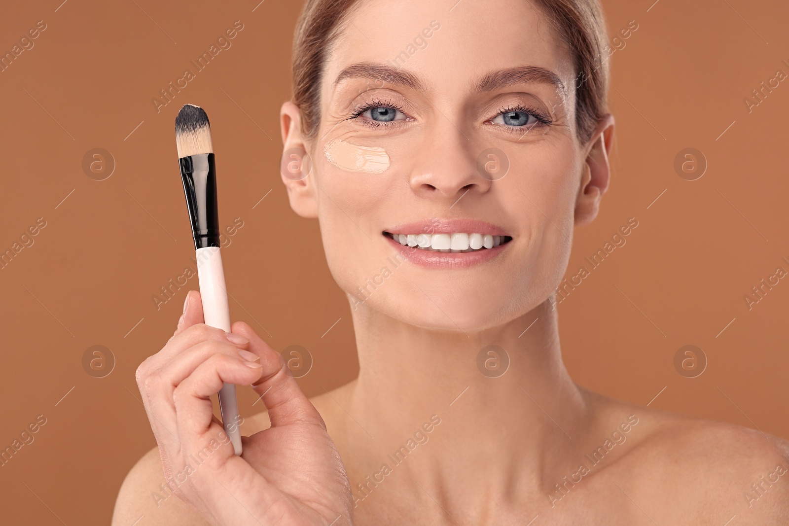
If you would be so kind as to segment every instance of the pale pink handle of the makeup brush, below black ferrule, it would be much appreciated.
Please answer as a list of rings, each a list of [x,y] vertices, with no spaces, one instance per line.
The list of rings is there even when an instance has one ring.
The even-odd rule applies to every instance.
[[[222,256],[219,247],[205,247],[196,250],[197,278],[200,280],[200,297],[203,300],[203,319],[206,325],[230,332],[230,308],[227,304],[225,272],[222,269]],[[238,416],[236,386],[225,383],[219,390],[219,410],[222,412],[222,425],[233,442],[237,455],[241,454],[241,419]]]

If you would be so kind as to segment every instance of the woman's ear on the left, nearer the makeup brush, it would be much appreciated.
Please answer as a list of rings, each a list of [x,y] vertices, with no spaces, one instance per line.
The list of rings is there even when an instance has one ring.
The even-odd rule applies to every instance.
[[[315,195],[315,173],[309,145],[301,133],[301,110],[288,101],[279,110],[279,125],[282,131],[282,159],[279,173],[288,191],[290,207],[303,218],[318,217]]]

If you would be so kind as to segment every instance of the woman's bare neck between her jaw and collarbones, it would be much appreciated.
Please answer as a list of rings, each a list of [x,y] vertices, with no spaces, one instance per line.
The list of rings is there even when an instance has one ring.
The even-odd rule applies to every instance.
[[[433,415],[440,423],[413,449],[419,460],[396,468],[428,492],[426,483],[437,491],[469,480],[495,491],[514,476],[537,490],[580,442],[570,440],[589,407],[562,362],[548,301],[477,332],[423,329],[368,308],[353,312],[353,326],[360,371],[346,410],[358,424],[353,442],[370,445],[376,468],[394,467],[387,453]]]

